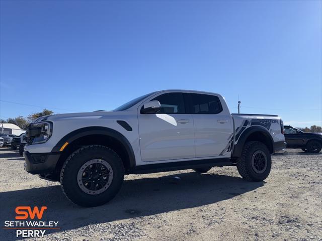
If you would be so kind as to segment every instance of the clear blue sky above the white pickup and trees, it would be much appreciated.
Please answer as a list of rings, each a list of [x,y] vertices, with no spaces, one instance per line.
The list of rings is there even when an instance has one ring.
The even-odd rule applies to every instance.
[[[1,1],[0,118],[179,88],[321,126],[321,3]]]

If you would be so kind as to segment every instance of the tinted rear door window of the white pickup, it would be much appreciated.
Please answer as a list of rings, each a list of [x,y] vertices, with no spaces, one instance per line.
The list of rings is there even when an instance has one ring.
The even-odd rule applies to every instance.
[[[191,113],[217,114],[222,111],[219,98],[208,94],[190,94],[192,100]]]

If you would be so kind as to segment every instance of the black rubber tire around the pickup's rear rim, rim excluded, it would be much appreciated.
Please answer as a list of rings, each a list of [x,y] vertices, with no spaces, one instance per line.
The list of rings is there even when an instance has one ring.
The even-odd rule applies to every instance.
[[[260,152],[261,155],[266,156],[266,167],[258,173],[256,168],[252,165],[252,158],[256,152]],[[270,174],[272,167],[271,154],[268,148],[261,142],[247,142],[244,145],[241,156],[237,159],[237,170],[241,177],[248,181],[260,182],[265,180]]]

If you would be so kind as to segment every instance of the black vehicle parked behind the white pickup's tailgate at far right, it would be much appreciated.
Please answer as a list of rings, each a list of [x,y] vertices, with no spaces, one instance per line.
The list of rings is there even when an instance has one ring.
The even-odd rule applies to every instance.
[[[304,152],[318,153],[322,149],[322,133],[302,132],[291,126],[284,126],[286,148],[300,148]]]

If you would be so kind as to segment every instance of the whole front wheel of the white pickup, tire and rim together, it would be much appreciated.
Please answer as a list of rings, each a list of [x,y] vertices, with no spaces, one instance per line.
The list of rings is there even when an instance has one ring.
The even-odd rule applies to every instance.
[[[60,184],[73,203],[94,207],[110,201],[124,179],[121,158],[104,146],[85,146],[73,152],[60,172]]]

